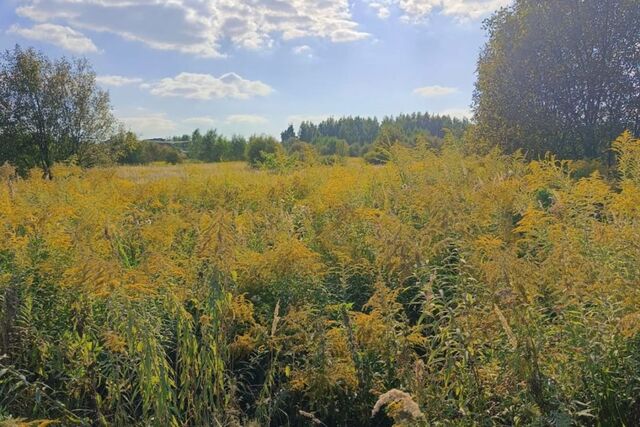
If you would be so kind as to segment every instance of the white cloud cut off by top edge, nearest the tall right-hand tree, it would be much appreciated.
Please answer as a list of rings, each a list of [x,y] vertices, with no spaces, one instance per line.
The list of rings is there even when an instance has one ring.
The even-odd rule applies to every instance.
[[[402,13],[402,20],[420,22],[433,12],[454,16],[458,19],[478,19],[491,12],[508,6],[512,0],[366,0],[378,12],[380,18],[387,18],[390,8]]]

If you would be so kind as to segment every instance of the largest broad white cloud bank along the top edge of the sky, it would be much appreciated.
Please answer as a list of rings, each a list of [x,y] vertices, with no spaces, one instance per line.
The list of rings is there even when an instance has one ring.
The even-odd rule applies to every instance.
[[[16,0],[35,22],[116,34],[154,49],[225,56],[221,45],[264,49],[277,40],[368,37],[349,0]]]

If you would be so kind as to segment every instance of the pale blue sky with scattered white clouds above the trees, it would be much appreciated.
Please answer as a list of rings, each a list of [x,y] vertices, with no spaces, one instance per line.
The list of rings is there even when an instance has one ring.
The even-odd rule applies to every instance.
[[[87,57],[145,138],[414,111],[470,115],[510,0],[0,0],[0,49]]]

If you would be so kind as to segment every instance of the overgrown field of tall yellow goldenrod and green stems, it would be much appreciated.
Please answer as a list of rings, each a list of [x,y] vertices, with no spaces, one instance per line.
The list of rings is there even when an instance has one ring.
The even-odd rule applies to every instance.
[[[0,420],[634,425],[639,145],[3,178]]]

